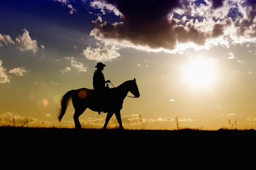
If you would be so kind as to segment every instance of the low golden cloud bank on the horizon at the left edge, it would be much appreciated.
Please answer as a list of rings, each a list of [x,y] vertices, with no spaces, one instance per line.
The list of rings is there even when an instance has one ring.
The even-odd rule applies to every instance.
[[[14,117],[15,119],[15,126],[16,127],[20,127],[21,125],[23,125],[26,120],[28,119],[28,125],[31,127],[31,126],[46,126],[46,125],[49,125],[50,122],[48,121],[41,121],[41,120],[38,120],[36,118],[33,118],[33,117],[29,117],[29,116],[20,116],[20,115],[17,115],[16,113],[11,113],[11,112],[6,112],[6,113],[3,113],[3,114],[0,114],[0,125],[10,125],[12,122],[12,118]],[[11,124],[12,125],[12,124]]]

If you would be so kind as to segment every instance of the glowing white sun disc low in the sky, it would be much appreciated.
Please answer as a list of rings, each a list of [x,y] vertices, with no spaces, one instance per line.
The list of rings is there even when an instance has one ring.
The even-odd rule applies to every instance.
[[[183,81],[193,87],[209,87],[215,79],[215,73],[212,62],[197,57],[183,66]]]

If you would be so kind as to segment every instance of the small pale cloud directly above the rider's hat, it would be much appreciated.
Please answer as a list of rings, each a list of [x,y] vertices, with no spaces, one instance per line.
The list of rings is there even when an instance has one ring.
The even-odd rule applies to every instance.
[[[88,46],[85,50],[81,51],[81,54],[84,55],[85,58],[96,60],[96,61],[111,61],[120,57],[121,55],[113,49],[108,48],[91,48]]]

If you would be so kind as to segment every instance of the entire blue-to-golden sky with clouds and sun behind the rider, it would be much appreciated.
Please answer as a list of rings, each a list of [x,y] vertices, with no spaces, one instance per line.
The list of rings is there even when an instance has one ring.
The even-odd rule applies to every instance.
[[[57,120],[59,99],[93,89],[102,62],[115,87],[136,78],[124,128],[256,126],[255,0],[1,0],[0,16],[0,125],[73,128],[73,105]]]

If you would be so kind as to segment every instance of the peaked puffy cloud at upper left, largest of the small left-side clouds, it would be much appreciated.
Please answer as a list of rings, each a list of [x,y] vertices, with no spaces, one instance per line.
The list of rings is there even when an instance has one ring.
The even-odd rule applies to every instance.
[[[20,51],[33,51],[33,53],[36,53],[38,51],[37,47],[37,40],[32,40],[29,36],[29,32],[24,28],[24,33],[22,35],[19,35],[19,37],[16,37],[17,42],[17,48]]]

